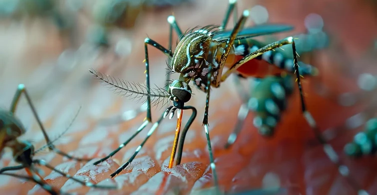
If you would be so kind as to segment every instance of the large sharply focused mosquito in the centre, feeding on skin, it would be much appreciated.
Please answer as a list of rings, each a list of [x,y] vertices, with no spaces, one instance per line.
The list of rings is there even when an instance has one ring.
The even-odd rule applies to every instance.
[[[225,26],[226,23],[228,22],[229,15],[231,11],[233,10],[235,3],[236,3],[235,0],[230,1],[230,6],[228,7],[222,26]],[[110,87],[115,87],[115,90],[119,89],[118,91],[119,93],[124,91],[125,93],[129,92],[129,95],[134,94],[136,95],[136,97],[147,96],[147,100],[146,100],[147,102],[146,119],[147,120],[144,121],[144,123],[139,127],[139,129],[136,131],[134,135],[136,135],[140,130],[142,130],[145,127],[147,123],[151,121],[151,112],[150,112],[151,97],[153,98],[152,103],[154,104],[158,104],[160,102],[165,104],[169,102],[169,100],[173,102],[173,105],[169,106],[165,110],[163,115],[158,119],[158,121],[152,126],[151,130],[154,130],[158,126],[158,124],[160,123],[163,117],[167,116],[169,113],[171,113],[170,117],[172,117],[174,115],[175,110],[184,108],[184,103],[190,100],[191,95],[192,95],[191,87],[188,85],[190,80],[192,80],[199,89],[206,92],[207,99],[206,99],[206,107],[205,107],[205,113],[204,113],[204,118],[203,118],[203,125],[204,125],[204,129],[206,133],[207,143],[208,143],[207,145],[208,145],[209,154],[210,154],[211,169],[212,169],[214,182],[216,186],[218,185],[217,174],[216,174],[216,168],[215,168],[214,158],[212,154],[210,136],[208,133],[208,107],[209,107],[210,86],[212,85],[213,87],[219,87],[220,82],[225,81],[225,79],[229,76],[229,74],[234,72],[241,65],[277,47],[280,47],[286,44],[292,44],[294,52],[296,51],[293,37],[287,37],[280,41],[268,44],[262,48],[254,50],[235,63],[232,61],[232,66],[229,68],[229,70],[225,72],[224,74],[222,74],[224,65],[226,64],[225,62],[227,61],[228,54],[230,53],[232,49],[233,49],[232,52],[235,52],[235,49],[233,47],[234,46],[233,43],[235,42],[235,40],[242,40],[242,39],[251,38],[258,35],[276,33],[276,32],[287,31],[287,30],[292,29],[292,26],[289,26],[289,25],[269,24],[269,25],[259,25],[259,26],[247,28],[241,31],[241,28],[243,27],[244,22],[246,21],[248,16],[249,16],[249,11],[245,10],[241,18],[239,18],[239,20],[237,21],[237,24],[235,25],[233,30],[229,30],[225,32],[221,31],[221,28],[214,30],[215,28],[219,26],[209,25],[209,26],[199,28],[198,30],[191,29],[187,31],[186,33],[182,33],[182,30],[178,27],[178,24],[175,21],[175,17],[169,16],[168,22],[171,24],[171,29],[172,28],[175,29],[175,31],[177,32],[179,36],[180,41],[175,49],[175,52],[173,53],[171,50],[166,49],[165,47],[163,47],[162,45],[160,45],[159,43],[157,43],[156,41],[150,38],[146,38],[144,40],[145,64],[146,64],[146,71],[145,71],[146,85],[130,83],[128,81],[116,79],[108,75],[104,76],[103,74],[98,73],[97,71],[94,71],[94,70],[89,70],[93,75],[101,79],[106,84],[109,84]],[[211,30],[214,30],[214,31],[211,31]],[[161,50],[163,53],[165,53],[171,58],[171,65],[168,65],[168,68],[170,70],[169,73],[175,73],[175,72],[180,73],[180,79],[173,80],[172,82],[168,83],[167,90],[160,87],[157,87],[155,89],[150,88],[149,58],[148,58],[148,48],[147,48],[148,44]],[[169,46],[169,48],[171,47]],[[295,54],[294,57],[296,59],[297,58],[296,53],[294,54]],[[291,62],[292,62],[291,65],[293,66],[294,61],[292,60]],[[297,60],[296,60],[296,63],[297,63]],[[299,77],[297,64],[294,69],[296,70],[297,76]],[[221,76],[218,76],[218,75],[221,75]],[[298,81],[299,81],[298,83],[301,89],[300,78],[298,78]],[[167,101],[165,101],[166,99]],[[310,114],[308,113],[308,115]],[[153,131],[148,132],[147,138],[150,136],[152,132]],[[124,145],[128,143],[128,141],[131,140],[134,137],[134,135],[131,136],[130,139],[128,139],[125,143],[121,144],[119,148],[116,149],[114,152],[112,152],[109,156],[106,156],[105,158],[99,160],[96,163],[99,163],[107,159],[108,157],[112,156],[120,148],[124,147]],[[137,148],[135,154],[137,154],[137,152],[140,150],[143,144],[144,142],[142,142],[142,144]],[[173,150],[174,150],[174,146],[173,146]],[[122,167],[120,167],[116,172],[111,174],[111,176],[115,176],[122,169],[124,169],[128,164],[129,164],[129,161],[127,161],[124,165],[122,165]]]

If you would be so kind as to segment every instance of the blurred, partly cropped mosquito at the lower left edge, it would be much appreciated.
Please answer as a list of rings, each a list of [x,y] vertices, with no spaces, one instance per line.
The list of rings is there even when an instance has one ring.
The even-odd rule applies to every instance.
[[[31,108],[31,111],[44,135],[44,139],[46,140],[46,145],[41,147],[40,149],[34,151],[34,146],[29,141],[20,141],[17,138],[25,133],[25,127],[22,125],[21,121],[14,115],[15,109],[17,107],[18,101],[20,99],[21,94],[24,93],[26,100],[28,102],[29,107]],[[78,112],[77,112],[78,114]],[[76,114],[76,116],[77,116]],[[76,117],[75,117],[76,118]],[[72,121],[73,122],[73,121]],[[72,124],[71,122],[71,124]],[[70,124],[70,125],[71,125]],[[70,126],[69,125],[69,126]],[[68,126],[68,128],[69,128]],[[65,131],[68,130],[65,129]],[[64,132],[65,132],[64,131]],[[57,140],[50,140],[48,137],[45,128],[42,125],[42,122],[40,121],[38,114],[36,113],[36,110],[34,108],[34,105],[30,99],[30,96],[28,95],[26,88],[24,84],[19,84],[17,87],[17,90],[13,96],[12,103],[10,104],[10,110],[0,110],[0,152],[4,147],[9,147],[12,150],[13,157],[15,159],[15,162],[20,163],[20,165],[17,166],[7,166],[0,169],[0,174],[7,174],[11,176],[16,176],[14,174],[10,173],[4,173],[4,171],[9,170],[19,170],[19,169],[25,169],[27,174],[29,175],[29,179],[33,180],[34,182],[41,185],[42,188],[44,188],[46,191],[48,191],[51,194],[58,194],[56,190],[52,189],[51,186],[49,186],[46,181],[39,175],[37,168],[34,166],[34,164],[43,165],[51,170],[56,171],[57,173],[70,178],[74,181],[77,181],[81,183],[82,185],[86,185],[89,187],[97,187],[97,188],[105,188],[105,189],[116,189],[117,186],[102,186],[97,185],[91,182],[85,182],[81,181],[77,178],[74,178],[70,176],[67,173],[64,173],[56,168],[54,168],[52,165],[46,163],[44,160],[41,159],[34,159],[33,156],[36,152],[40,151],[41,149],[48,147],[49,150],[52,150],[60,155],[63,155],[65,157],[68,157],[69,159],[79,160],[79,161],[89,161],[90,159],[85,158],[76,158],[71,155],[66,154],[65,152],[57,149],[53,142]],[[21,176],[22,177],[22,176]],[[43,185],[41,184],[43,183]]]

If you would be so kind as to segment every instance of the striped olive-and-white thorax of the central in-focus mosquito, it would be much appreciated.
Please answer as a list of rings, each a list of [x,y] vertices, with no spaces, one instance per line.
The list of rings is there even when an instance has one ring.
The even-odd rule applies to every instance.
[[[185,74],[185,77],[195,77],[206,59],[211,42],[211,32],[195,31],[186,34],[178,43],[173,59],[172,70]]]

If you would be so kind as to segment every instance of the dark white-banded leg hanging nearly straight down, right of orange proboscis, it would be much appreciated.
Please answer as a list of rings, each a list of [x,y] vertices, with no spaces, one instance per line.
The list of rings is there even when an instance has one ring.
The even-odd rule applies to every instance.
[[[212,64],[209,64],[208,73],[207,73],[207,85],[206,85],[207,98],[206,98],[206,106],[204,108],[205,111],[204,111],[204,117],[203,117],[203,125],[204,125],[204,130],[206,132],[206,137],[207,137],[207,145],[208,145],[208,152],[209,152],[209,159],[210,159],[210,164],[211,164],[211,169],[212,169],[213,180],[214,180],[215,186],[217,187],[219,183],[217,180],[216,165],[213,158],[211,140],[210,140],[209,131],[208,131],[208,108],[209,108],[209,99],[210,99],[210,91],[211,91],[211,78],[213,75],[212,71],[213,71]]]

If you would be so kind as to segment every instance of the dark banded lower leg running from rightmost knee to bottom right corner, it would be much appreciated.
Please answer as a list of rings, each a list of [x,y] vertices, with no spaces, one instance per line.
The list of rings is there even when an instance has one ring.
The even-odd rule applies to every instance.
[[[295,73],[297,77],[297,84],[300,90],[300,99],[301,99],[301,107],[302,112],[306,121],[309,123],[310,127],[313,129],[314,134],[316,135],[318,141],[323,145],[323,149],[326,155],[330,158],[330,160],[338,166],[339,173],[344,176],[350,184],[358,190],[358,194],[368,194],[368,192],[360,187],[359,184],[350,176],[350,169],[340,160],[339,155],[334,150],[333,146],[326,141],[326,138],[322,135],[321,131],[319,130],[315,119],[313,118],[312,114],[306,109],[305,99],[303,95],[303,88],[301,85],[300,80],[300,72],[299,72],[299,64],[297,60],[297,51],[296,51],[296,44],[293,40],[292,42],[292,50],[293,50],[293,62]]]

